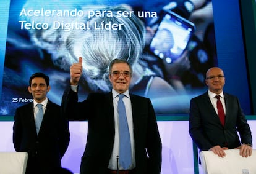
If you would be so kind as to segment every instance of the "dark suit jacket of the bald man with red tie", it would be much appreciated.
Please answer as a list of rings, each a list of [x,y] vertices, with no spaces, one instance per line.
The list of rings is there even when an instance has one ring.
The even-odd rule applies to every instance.
[[[240,146],[241,141],[252,144],[250,127],[238,98],[224,93],[224,100],[226,105],[224,127],[207,92],[190,101],[189,133],[200,151],[207,151],[216,145],[233,149]]]

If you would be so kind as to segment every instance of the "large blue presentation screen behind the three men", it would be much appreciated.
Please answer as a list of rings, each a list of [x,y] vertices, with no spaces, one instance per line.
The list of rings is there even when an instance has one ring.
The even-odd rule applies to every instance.
[[[156,114],[168,115],[188,114],[190,99],[207,92],[208,68],[236,64],[217,56],[215,22],[221,17],[211,1],[1,3],[9,6],[1,9],[0,117],[13,116],[17,107],[33,101],[27,87],[36,72],[49,76],[48,98],[61,105],[69,68],[79,57],[80,101],[88,93],[109,92],[109,62],[126,58],[133,68],[130,93],[150,98]],[[246,69],[240,73],[247,76]],[[242,100],[250,102],[247,95]]]

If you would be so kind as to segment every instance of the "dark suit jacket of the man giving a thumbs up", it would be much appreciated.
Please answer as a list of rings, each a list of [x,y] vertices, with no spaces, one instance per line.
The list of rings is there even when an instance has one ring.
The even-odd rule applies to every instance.
[[[132,94],[130,100],[134,124],[136,173],[160,173],[161,139],[151,101]],[[69,87],[62,98],[62,109],[69,120],[88,120],[87,144],[80,173],[107,173],[115,133],[112,93],[90,94],[87,100],[77,103],[77,93]]]

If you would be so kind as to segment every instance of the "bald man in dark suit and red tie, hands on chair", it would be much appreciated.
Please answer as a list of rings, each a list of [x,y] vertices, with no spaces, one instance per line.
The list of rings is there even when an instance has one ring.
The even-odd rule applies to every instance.
[[[205,83],[208,92],[190,101],[189,133],[200,151],[213,151],[220,157],[226,156],[225,149],[240,149],[242,157],[252,154],[252,135],[249,124],[234,95],[223,92],[225,77],[223,70],[210,68]],[[216,95],[220,96],[220,107],[224,111],[223,122],[219,116]],[[221,105],[222,104],[222,105]],[[241,141],[239,140],[239,132]]]

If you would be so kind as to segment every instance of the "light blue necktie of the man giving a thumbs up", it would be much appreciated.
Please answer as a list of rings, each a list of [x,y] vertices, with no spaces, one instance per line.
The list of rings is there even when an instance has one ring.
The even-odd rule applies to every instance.
[[[120,165],[126,170],[132,164],[132,148],[130,146],[130,133],[126,118],[126,106],[122,98],[124,94],[119,94],[118,101],[118,114],[119,114],[119,139],[120,139],[120,149],[119,149],[119,162]]]

